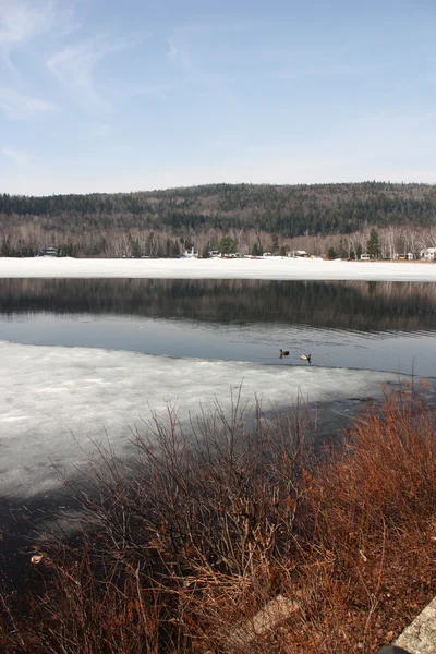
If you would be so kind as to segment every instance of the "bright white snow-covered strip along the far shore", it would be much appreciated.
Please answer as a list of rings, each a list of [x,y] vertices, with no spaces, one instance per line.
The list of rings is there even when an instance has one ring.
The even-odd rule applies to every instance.
[[[303,258],[74,259],[0,258],[2,277],[143,277],[161,279],[341,279],[436,281],[436,264]]]

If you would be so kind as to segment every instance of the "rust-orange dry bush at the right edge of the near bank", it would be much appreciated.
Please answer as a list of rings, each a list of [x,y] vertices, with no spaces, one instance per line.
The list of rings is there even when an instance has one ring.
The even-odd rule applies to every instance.
[[[323,651],[360,643],[373,652],[435,592],[435,435],[425,388],[404,384],[368,408],[314,471],[302,552],[324,571],[304,581],[317,598],[308,622],[324,633]]]

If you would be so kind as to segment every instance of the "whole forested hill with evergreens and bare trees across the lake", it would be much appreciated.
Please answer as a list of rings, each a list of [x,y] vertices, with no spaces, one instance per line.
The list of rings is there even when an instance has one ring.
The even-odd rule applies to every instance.
[[[213,184],[129,194],[0,195],[3,255],[53,244],[83,256],[177,256],[192,245],[215,249],[226,233],[241,252],[255,244],[265,251],[300,243],[319,254],[331,244],[355,250],[358,234],[364,250],[371,227],[390,233],[385,244],[390,251],[432,245],[436,186]]]

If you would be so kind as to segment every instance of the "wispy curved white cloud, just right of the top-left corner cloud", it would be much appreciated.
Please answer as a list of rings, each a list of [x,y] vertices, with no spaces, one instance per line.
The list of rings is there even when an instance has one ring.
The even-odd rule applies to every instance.
[[[120,52],[131,43],[112,41],[108,36],[96,36],[86,41],[66,46],[47,61],[50,71],[77,100],[105,105],[96,88],[95,69],[106,57]]]

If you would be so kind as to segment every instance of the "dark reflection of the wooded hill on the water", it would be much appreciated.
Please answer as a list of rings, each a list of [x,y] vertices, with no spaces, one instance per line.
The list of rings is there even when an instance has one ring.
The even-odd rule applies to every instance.
[[[436,284],[157,279],[5,279],[3,314],[123,314],[289,323],[359,331],[436,330]]]

